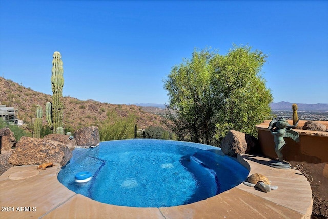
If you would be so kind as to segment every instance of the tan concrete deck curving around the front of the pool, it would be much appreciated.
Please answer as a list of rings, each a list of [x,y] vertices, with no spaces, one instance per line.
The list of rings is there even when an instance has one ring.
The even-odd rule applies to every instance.
[[[70,191],[57,180],[59,164],[46,170],[15,166],[0,176],[0,218],[310,218],[311,187],[298,170],[269,167],[268,159],[259,156],[240,158],[248,163],[250,175],[267,176],[278,190],[264,193],[241,183],[188,205],[135,208],[100,203]]]

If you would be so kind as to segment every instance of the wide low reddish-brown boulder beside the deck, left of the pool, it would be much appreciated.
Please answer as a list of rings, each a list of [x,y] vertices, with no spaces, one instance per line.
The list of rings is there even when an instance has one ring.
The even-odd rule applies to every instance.
[[[39,165],[57,162],[64,166],[72,157],[72,151],[63,143],[32,137],[22,137],[16,144],[9,162],[12,165]]]

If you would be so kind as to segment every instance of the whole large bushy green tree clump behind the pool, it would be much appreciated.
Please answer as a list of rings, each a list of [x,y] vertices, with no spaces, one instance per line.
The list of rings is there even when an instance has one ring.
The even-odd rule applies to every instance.
[[[268,118],[272,102],[260,74],[266,58],[249,46],[234,46],[227,55],[195,50],[165,81],[169,127],[182,140],[212,145],[229,130],[256,136],[255,124]]]

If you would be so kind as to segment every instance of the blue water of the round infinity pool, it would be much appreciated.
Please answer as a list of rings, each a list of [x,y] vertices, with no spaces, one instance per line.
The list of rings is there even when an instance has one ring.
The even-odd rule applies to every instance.
[[[76,183],[89,171],[92,180]],[[169,207],[212,197],[240,184],[249,171],[219,148],[169,140],[117,140],[73,150],[58,174],[70,190],[99,202]]]

